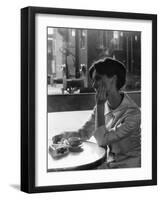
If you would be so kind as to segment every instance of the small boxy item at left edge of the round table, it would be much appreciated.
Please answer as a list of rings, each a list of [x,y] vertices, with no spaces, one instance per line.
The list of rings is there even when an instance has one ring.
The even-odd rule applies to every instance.
[[[65,144],[52,144],[49,146],[49,152],[53,158],[59,158],[69,153],[69,148]]]

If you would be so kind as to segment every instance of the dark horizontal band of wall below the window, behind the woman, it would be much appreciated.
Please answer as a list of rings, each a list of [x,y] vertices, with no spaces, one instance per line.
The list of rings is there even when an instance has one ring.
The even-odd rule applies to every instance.
[[[127,92],[127,94],[141,107],[141,92]],[[65,94],[48,95],[48,112],[92,110],[95,105],[95,94]]]

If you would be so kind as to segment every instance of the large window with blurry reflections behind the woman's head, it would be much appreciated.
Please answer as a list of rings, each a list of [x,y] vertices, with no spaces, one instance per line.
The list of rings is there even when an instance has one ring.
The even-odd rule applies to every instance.
[[[141,90],[141,33],[134,31],[49,27],[47,31],[48,94],[94,92],[91,64],[104,57],[123,62],[125,91]]]

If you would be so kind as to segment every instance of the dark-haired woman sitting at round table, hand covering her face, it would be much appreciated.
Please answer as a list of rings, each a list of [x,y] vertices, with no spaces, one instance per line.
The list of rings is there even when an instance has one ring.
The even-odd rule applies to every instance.
[[[96,90],[96,106],[89,121],[77,132],[55,136],[54,141],[71,136],[88,140],[94,136],[100,146],[108,146],[112,162],[103,168],[141,167],[141,113],[135,102],[120,92],[126,69],[114,59],[95,62],[89,75]]]

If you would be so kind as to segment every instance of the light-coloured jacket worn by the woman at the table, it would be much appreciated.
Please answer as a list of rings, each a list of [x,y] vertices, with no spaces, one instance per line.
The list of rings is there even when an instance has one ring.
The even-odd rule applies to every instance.
[[[141,157],[141,112],[136,103],[127,95],[121,104],[115,109],[110,110],[108,104],[105,103],[105,134],[103,137],[103,145],[108,145],[110,151],[115,156],[115,162],[127,158],[139,158],[139,163],[135,163],[136,167],[140,166]],[[79,130],[79,133],[85,139],[89,139],[95,133],[95,109],[89,121]],[[101,130],[101,129],[100,129]]]

